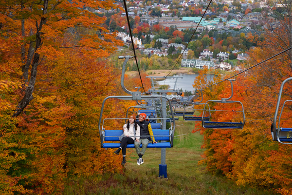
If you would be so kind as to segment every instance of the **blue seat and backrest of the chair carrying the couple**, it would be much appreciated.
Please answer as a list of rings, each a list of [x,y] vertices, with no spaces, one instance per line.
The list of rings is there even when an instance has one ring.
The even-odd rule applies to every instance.
[[[147,148],[171,148],[170,143],[170,131],[167,129],[153,129],[153,135],[155,137],[155,141],[166,141],[166,142],[158,142],[151,143],[149,142]],[[123,134],[123,130],[105,130],[104,138],[105,141],[118,141],[116,143],[103,143],[102,148],[118,148],[120,147],[119,137]],[[135,148],[135,144],[128,144],[127,148]],[[142,144],[140,145],[142,148]]]

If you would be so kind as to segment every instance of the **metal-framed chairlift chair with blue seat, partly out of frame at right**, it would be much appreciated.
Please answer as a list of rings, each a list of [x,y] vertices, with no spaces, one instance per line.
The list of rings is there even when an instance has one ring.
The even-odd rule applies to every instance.
[[[279,94],[278,94],[278,100],[277,100],[277,104],[276,104],[276,110],[275,110],[275,113],[274,113],[274,120],[273,120],[273,123],[271,125],[271,134],[272,134],[273,140],[274,141],[278,141],[278,142],[283,143],[283,144],[292,144],[292,137],[289,137],[289,132],[292,132],[292,128],[282,128],[282,127],[280,127],[280,119],[281,119],[281,116],[282,116],[282,113],[283,113],[283,110],[284,110],[285,103],[289,102],[289,101],[292,101],[292,100],[284,101],[282,109],[281,109],[281,113],[280,113],[279,118],[278,118],[278,127],[276,126],[278,110],[279,110],[279,107],[280,107],[280,101],[281,101],[283,88],[284,88],[285,83],[288,82],[289,80],[292,80],[292,77],[285,79],[281,84],[281,87],[280,87],[280,90],[279,90]],[[287,132],[288,132],[288,135],[287,135]],[[287,141],[287,142],[283,142],[283,141]]]

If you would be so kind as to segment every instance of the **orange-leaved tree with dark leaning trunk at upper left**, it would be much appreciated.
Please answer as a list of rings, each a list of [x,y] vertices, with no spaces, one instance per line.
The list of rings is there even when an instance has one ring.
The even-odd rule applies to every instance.
[[[95,2],[92,0],[75,1],[74,3],[54,0],[41,2],[28,0],[23,3],[3,1],[1,3],[0,30],[2,36],[0,41],[2,45],[6,45],[3,47],[3,52],[19,51],[17,52],[19,55],[7,59],[5,63],[19,64],[21,77],[24,82],[28,83],[14,117],[19,116],[33,99],[37,67],[46,59],[62,56],[61,48],[76,49],[90,54],[91,57],[107,57],[118,44],[112,34],[107,34],[107,29],[100,27],[105,19],[83,9],[85,6],[94,9],[117,8],[112,1]],[[55,38],[63,36],[64,32],[68,30],[74,33],[73,27],[91,29],[101,33],[84,34],[83,36],[75,34],[76,37],[79,37],[78,41],[55,41]],[[11,50],[12,47],[7,47],[8,45],[15,45],[13,49],[16,50]],[[31,70],[30,73],[29,70]]]

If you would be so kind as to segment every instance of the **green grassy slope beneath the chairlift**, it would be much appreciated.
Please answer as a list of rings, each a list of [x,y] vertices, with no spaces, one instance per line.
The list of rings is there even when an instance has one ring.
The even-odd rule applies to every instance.
[[[135,150],[128,149],[124,174],[70,178],[64,195],[273,195],[210,174],[205,165],[198,165],[202,135],[191,133],[194,122],[180,117],[176,125],[174,147],[166,149],[168,178],[158,177],[161,149],[148,148],[141,166]]]

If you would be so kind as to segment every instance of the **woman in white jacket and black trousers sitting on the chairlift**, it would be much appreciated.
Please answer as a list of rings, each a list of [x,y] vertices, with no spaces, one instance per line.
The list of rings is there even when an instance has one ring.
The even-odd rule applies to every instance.
[[[124,137],[121,140],[120,147],[114,151],[114,154],[119,154],[122,150],[123,154],[123,161],[122,165],[126,163],[126,152],[127,152],[127,146],[128,144],[133,144],[134,141],[139,142],[140,139],[140,127],[137,125],[135,114],[131,115],[129,117],[128,123],[124,124],[123,131],[124,131]]]

